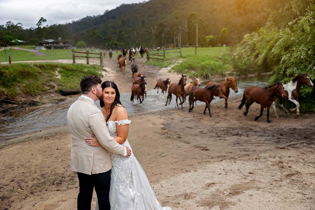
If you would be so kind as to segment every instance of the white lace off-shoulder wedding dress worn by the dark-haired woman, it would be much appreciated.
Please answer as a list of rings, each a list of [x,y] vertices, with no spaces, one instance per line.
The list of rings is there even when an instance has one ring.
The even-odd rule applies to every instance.
[[[130,120],[108,121],[107,128],[112,137],[117,137],[118,125],[130,124]],[[162,207],[150,186],[146,173],[134,156],[128,139],[122,144],[131,150],[129,158],[110,152],[112,161],[109,200],[111,210],[171,210]],[[96,197],[95,210],[99,210]]]

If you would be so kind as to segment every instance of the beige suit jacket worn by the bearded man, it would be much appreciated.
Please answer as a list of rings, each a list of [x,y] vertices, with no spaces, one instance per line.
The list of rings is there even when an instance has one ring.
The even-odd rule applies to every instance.
[[[112,168],[109,151],[118,155],[125,153],[125,148],[109,135],[102,112],[93,101],[79,97],[67,114],[71,133],[72,171],[85,174],[103,173]],[[84,138],[94,134],[102,146],[89,146]]]

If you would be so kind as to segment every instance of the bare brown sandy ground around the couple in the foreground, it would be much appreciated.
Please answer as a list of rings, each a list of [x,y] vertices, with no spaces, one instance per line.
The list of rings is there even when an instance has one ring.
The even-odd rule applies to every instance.
[[[172,209],[314,209],[314,114],[247,116],[240,96],[129,115],[129,142],[157,199]],[[143,132],[146,131],[146,132]],[[20,137],[0,150],[0,209],[75,209],[78,180],[70,171],[66,126]],[[92,200],[94,209],[95,195]]]

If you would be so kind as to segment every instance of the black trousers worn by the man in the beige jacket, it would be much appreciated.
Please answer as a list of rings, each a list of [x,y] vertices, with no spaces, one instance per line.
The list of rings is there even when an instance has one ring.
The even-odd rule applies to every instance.
[[[79,179],[79,194],[77,198],[77,210],[91,210],[93,189],[98,199],[100,210],[110,210],[109,188],[111,185],[111,170],[92,175],[77,172]]]

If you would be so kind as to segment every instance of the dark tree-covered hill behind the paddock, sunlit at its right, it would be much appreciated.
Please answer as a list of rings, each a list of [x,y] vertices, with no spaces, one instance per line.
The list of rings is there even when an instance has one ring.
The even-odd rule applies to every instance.
[[[151,0],[122,4],[102,15],[65,25],[23,30],[19,39],[37,43],[43,38],[61,37],[72,39],[73,44],[84,41],[102,48],[106,43],[108,47],[128,47],[130,43],[157,47],[174,43],[174,36],[180,33],[182,44],[195,44],[198,23],[200,45],[229,45],[264,26],[270,12],[278,11],[285,3],[285,0]],[[223,28],[226,29],[222,31]],[[6,25],[3,29],[6,30]],[[175,38],[177,42],[178,37]]]

